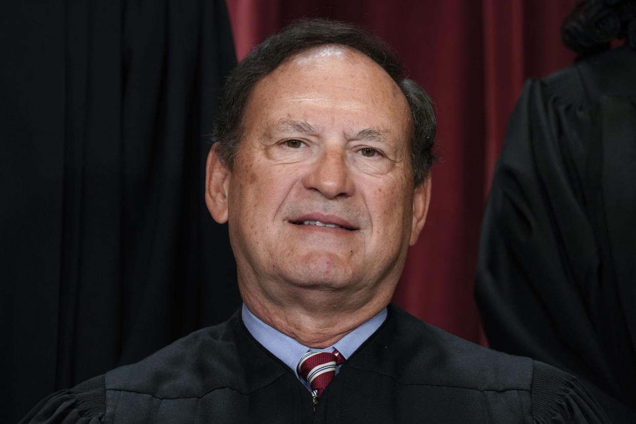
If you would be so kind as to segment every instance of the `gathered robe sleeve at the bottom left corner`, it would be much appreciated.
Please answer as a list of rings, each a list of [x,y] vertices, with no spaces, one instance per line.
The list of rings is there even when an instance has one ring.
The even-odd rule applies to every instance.
[[[104,375],[41,400],[22,418],[22,423],[97,424],[106,409]]]

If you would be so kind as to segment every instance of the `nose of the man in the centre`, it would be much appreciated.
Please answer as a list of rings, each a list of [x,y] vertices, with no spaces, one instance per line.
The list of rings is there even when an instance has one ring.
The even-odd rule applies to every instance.
[[[328,199],[348,197],[354,191],[349,164],[342,147],[324,149],[303,177],[307,189],[314,189]]]

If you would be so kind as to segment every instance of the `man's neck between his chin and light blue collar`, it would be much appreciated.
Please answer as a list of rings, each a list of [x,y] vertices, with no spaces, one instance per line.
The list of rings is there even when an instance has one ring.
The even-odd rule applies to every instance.
[[[333,345],[384,309],[391,294],[365,301],[342,293],[305,291],[293,302],[271,302],[241,287],[243,301],[256,317],[310,348]]]

